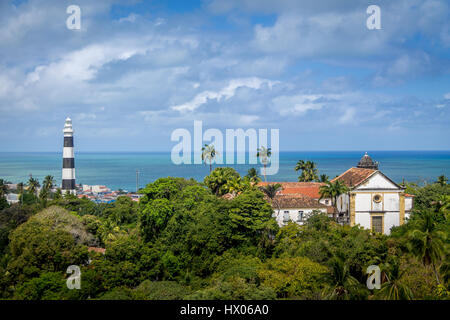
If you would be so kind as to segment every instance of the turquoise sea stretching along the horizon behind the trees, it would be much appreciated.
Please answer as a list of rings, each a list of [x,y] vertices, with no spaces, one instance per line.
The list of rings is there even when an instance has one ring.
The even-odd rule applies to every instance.
[[[335,177],[356,166],[364,152],[281,152],[277,175],[269,181],[296,181],[294,171],[299,159],[312,160],[319,173]],[[450,151],[372,151],[369,155],[380,163],[379,169],[397,182],[432,182],[444,174],[450,176]],[[61,183],[61,153],[1,153],[0,178],[26,182],[29,175],[40,181],[50,174]],[[75,154],[77,183],[102,184],[112,189],[136,189],[136,170],[139,170],[139,186],[159,177],[175,176],[203,180],[209,173],[207,165],[174,165],[170,153],[83,153]],[[256,165],[234,165],[240,174]]]

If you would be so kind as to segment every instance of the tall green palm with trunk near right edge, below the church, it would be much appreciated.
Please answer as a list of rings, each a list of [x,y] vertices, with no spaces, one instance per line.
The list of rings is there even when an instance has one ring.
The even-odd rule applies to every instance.
[[[436,264],[444,255],[446,234],[438,230],[433,212],[424,211],[420,218],[408,232],[408,247],[410,251],[422,261],[423,265],[431,265],[438,285],[441,283]]]

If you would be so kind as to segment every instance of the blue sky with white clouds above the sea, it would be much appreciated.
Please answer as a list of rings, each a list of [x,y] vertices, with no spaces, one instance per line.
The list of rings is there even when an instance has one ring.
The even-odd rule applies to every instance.
[[[77,151],[170,151],[195,120],[282,151],[450,150],[449,109],[447,0],[0,1],[0,151],[61,151],[68,116]]]

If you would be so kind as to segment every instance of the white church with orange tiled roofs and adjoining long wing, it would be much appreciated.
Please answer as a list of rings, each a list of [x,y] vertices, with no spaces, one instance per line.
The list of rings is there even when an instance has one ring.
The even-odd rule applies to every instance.
[[[367,153],[356,167],[350,168],[331,182],[341,181],[349,192],[339,196],[338,212],[334,212],[330,199],[320,199],[318,182],[279,183],[282,189],[273,200],[274,216],[280,226],[289,221],[303,224],[313,211],[337,215],[340,223],[360,225],[373,232],[389,234],[393,226],[402,225],[413,208],[413,195],[378,170]],[[260,183],[267,185],[269,183]]]

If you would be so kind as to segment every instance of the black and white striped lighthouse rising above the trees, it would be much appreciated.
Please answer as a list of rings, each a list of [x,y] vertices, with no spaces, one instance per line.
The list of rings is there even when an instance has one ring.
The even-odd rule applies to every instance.
[[[76,194],[75,188],[75,160],[73,152],[73,129],[72,120],[66,119],[64,124],[64,149],[63,149],[63,172],[62,193]]]

